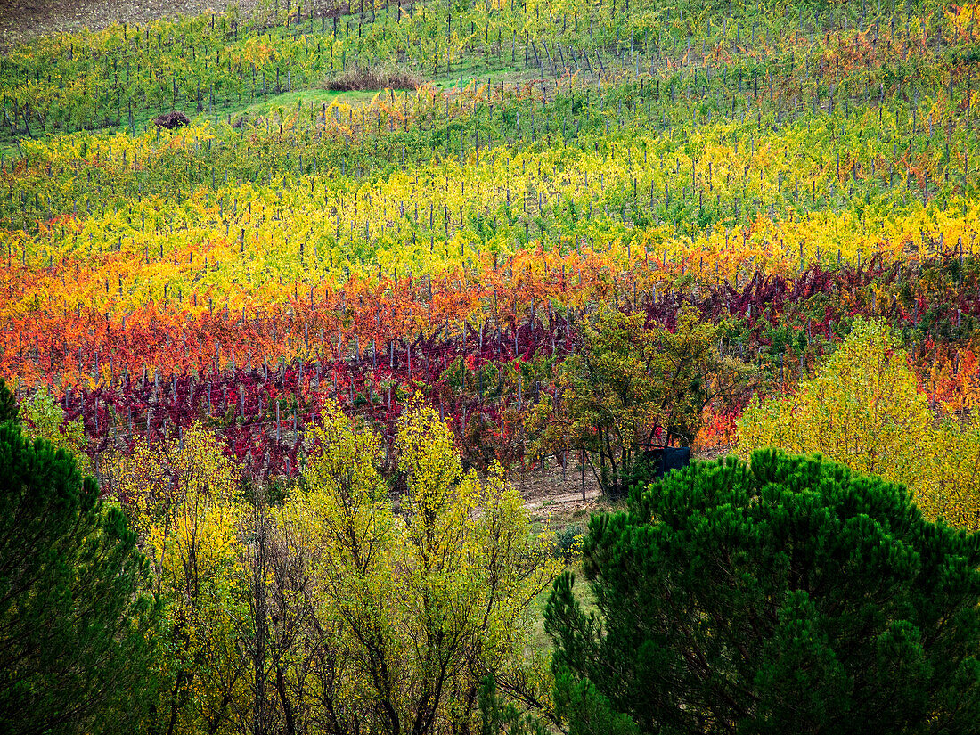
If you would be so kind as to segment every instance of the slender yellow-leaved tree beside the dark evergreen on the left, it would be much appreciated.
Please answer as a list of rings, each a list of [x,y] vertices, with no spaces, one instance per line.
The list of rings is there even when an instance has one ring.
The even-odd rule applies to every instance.
[[[161,444],[137,442],[111,468],[165,604],[158,729],[226,732],[249,704],[238,649],[251,619],[243,542],[250,515],[233,467],[218,439],[194,425]]]

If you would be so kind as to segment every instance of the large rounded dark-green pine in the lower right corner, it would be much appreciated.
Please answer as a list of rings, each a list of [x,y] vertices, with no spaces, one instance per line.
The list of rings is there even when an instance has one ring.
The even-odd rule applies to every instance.
[[[628,732],[980,731],[980,535],[820,457],[696,463],[595,515],[555,584],[556,704]]]

